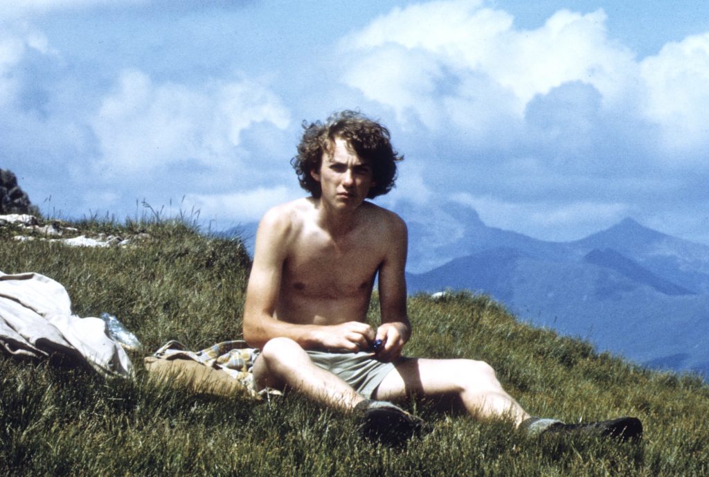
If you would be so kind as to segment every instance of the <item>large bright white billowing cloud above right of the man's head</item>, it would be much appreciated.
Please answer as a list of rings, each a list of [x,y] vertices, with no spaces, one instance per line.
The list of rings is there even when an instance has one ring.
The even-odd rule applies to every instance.
[[[400,120],[413,112],[429,127],[446,118],[462,129],[479,129],[491,116],[522,118],[535,96],[566,82],[591,84],[615,103],[635,63],[608,39],[605,20],[602,10],[564,10],[536,30],[520,30],[508,13],[480,1],[408,6],[342,40],[352,57],[343,80]]]

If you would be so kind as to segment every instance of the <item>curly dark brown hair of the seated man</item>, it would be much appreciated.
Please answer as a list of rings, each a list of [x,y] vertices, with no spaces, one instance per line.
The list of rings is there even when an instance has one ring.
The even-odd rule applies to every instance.
[[[328,118],[308,124],[303,121],[303,138],[298,144],[298,155],[291,159],[296,169],[301,187],[319,198],[320,182],[313,179],[311,172],[318,172],[324,154],[332,154],[335,138],[342,138],[362,159],[372,164],[374,185],[367,198],[381,196],[394,186],[396,163],[403,159],[391,146],[389,130],[383,125],[357,111],[340,111]]]

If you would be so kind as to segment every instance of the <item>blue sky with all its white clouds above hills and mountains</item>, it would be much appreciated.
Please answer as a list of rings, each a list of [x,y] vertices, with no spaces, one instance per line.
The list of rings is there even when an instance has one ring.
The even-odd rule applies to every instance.
[[[432,227],[709,244],[705,2],[0,1],[0,167],[50,214],[257,220],[342,108],[406,156],[378,202]]]

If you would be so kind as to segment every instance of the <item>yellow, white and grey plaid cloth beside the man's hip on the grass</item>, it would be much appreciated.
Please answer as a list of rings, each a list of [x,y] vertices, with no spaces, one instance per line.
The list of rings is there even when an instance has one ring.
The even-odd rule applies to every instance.
[[[201,351],[189,351],[184,344],[171,340],[160,347],[153,356],[160,359],[191,359],[205,366],[225,371],[226,374],[239,381],[245,391],[254,398],[264,395],[279,395],[279,391],[264,389],[256,391],[252,368],[256,357],[259,355],[257,348],[250,348],[243,340],[225,341],[214,344]]]

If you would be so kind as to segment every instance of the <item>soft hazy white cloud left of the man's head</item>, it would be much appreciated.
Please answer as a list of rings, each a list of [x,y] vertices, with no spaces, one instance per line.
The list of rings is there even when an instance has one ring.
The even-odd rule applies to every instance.
[[[284,129],[289,120],[272,91],[247,79],[190,88],[126,71],[93,121],[101,151],[96,170],[141,174],[171,164],[223,165],[238,159],[240,136],[251,125]]]

